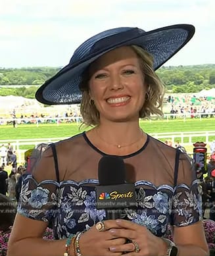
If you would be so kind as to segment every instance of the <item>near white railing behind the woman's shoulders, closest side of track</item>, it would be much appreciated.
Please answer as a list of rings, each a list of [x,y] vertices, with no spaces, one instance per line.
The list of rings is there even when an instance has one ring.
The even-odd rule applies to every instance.
[[[212,142],[212,140],[214,140],[214,138],[215,138],[215,130],[208,131],[208,132],[162,132],[162,133],[153,133],[150,135],[158,140],[162,140],[162,141],[170,140],[172,142],[173,146],[179,140],[180,145],[183,145],[184,147],[186,147],[187,145],[193,146],[193,143],[196,142],[196,140],[194,141],[193,138],[196,139],[198,137],[204,138],[203,141],[207,145],[210,144],[210,142]],[[11,143],[13,149],[16,151],[18,163],[23,163],[24,160],[23,160],[22,154],[25,150],[21,150],[20,146],[23,146],[23,145],[28,146],[29,145],[29,148],[32,148],[40,143],[52,143],[52,142],[64,140],[67,138],[68,137],[21,139],[21,140],[0,140],[0,145],[2,145],[2,144],[6,145],[7,143]],[[193,152],[187,151],[187,153],[189,153],[191,155]],[[208,152],[208,153],[210,153],[210,152]]]

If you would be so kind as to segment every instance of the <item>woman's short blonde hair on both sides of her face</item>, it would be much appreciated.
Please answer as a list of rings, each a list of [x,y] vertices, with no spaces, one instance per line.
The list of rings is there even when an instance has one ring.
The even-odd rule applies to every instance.
[[[147,97],[143,107],[139,111],[139,117],[150,118],[151,115],[162,116],[162,102],[165,88],[153,70],[153,56],[137,45],[130,45],[130,47],[137,54],[137,57],[139,57],[140,66],[145,76],[145,83],[147,84]],[[87,68],[80,83],[80,90],[82,91],[80,111],[83,124],[97,126],[100,123],[99,111],[89,95],[89,79],[89,68]]]

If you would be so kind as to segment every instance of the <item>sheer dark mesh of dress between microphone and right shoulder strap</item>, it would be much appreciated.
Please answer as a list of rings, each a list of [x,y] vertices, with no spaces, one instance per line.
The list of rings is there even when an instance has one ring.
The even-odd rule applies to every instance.
[[[141,152],[124,159],[128,165],[129,181],[145,180],[156,188],[163,185],[173,188],[175,158],[176,149],[149,136]]]

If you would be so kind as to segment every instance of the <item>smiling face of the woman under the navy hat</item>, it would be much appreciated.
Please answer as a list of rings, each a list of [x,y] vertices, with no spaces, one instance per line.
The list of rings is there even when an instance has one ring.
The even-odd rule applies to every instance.
[[[139,59],[131,47],[116,48],[91,64],[89,91],[100,122],[137,120],[147,86]]]

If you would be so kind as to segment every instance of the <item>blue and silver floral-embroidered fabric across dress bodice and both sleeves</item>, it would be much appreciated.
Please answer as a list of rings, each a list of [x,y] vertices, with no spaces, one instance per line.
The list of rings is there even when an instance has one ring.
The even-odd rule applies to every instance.
[[[90,182],[98,184],[97,180]],[[86,184],[85,181],[58,184],[52,180],[37,184],[29,175],[22,184],[18,213],[52,223],[55,239],[87,230],[105,218],[105,210],[97,210],[95,186]],[[187,226],[201,218],[197,182],[190,188],[180,184],[175,189],[168,185],[156,188],[147,181],[136,182],[137,185],[136,207],[124,209],[124,218],[145,226],[156,236],[165,234],[170,220],[176,226]]]

